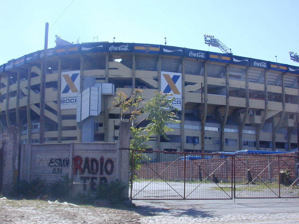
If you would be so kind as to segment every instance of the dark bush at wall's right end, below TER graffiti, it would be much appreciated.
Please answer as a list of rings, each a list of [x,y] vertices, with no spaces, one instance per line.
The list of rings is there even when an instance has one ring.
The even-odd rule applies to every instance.
[[[120,182],[118,179],[116,181],[111,181],[108,184],[103,183],[99,185],[97,198],[107,199],[112,205],[117,205],[120,202],[128,199],[125,189],[126,185]]]

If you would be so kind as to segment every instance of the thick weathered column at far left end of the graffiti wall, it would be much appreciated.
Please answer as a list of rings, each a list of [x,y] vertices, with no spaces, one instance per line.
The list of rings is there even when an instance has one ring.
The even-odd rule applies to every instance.
[[[9,126],[1,134],[1,150],[3,150],[3,173],[1,192],[10,194],[18,181],[19,170],[19,131],[16,126]]]

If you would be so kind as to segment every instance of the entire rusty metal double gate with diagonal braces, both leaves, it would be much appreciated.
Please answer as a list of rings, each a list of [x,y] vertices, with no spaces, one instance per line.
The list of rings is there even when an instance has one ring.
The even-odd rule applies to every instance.
[[[298,197],[297,156],[132,151],[131,200]],[[160,162],[157,162],[160,161]]]

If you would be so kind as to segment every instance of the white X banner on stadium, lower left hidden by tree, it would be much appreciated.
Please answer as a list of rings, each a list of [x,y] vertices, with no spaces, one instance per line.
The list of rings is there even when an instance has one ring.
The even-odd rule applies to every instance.
[[[182,110],[182,73],[161,71],[161,91],[163,93],[172,93],[175,98],[172,102],[174,108]]]

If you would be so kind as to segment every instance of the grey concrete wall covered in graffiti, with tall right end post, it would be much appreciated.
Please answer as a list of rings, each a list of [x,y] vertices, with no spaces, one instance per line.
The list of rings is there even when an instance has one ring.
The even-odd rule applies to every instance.
[[[129,128],[129,123],[120,125],[119,143],[21,145],[20,180],[55,183],[67,175],[73,179],[73,194],[116,179],[129,186]]]

